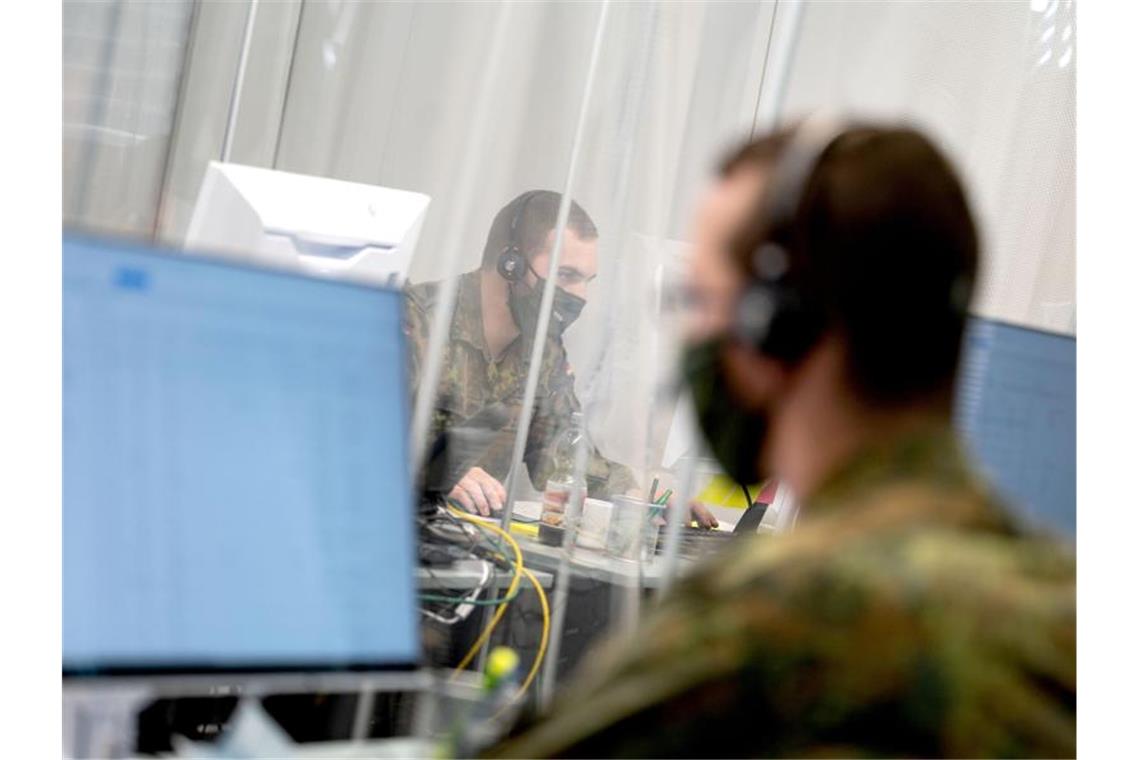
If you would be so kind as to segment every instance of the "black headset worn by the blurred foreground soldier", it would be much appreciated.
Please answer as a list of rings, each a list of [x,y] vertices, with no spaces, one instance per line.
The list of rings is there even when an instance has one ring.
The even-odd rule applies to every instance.
[[[760,202],[766,234],[748,261],[750,283],[736,305],[734,334],[774,359],[803,359],[826,326],[817,299],[792,276],[791,254],[798,244],[796,218],[804,195],[820,161],[848,128],[821,116],[799,124],[775,162]]]

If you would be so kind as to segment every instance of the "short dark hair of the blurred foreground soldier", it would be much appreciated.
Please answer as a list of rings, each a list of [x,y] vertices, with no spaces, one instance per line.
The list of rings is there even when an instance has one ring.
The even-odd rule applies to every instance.
[[[720,174],[771,170],[791,134],[748,142]],[[746,271],[766,232],[763,193],[733,244]],[[820,160],[793,228],[791,269],[845,342],[860,398],[877,406],[934,399],[948,408],[980,255],[950,161],[913,129],[854,125]]]

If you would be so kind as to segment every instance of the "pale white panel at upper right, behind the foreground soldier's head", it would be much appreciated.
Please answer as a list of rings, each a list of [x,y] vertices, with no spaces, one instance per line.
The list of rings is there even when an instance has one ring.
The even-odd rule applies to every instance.
[[[807,2],[785,112],[904,119],[964,175],[986,265],[975,311],[1076,332],[1074,6]]]

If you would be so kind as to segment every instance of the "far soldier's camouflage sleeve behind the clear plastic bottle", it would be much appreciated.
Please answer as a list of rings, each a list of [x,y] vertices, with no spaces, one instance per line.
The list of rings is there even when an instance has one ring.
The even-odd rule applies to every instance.
[[[567,361],[565,349],[557,343],[547,346],[544,373],[535,399],[535,415],[527,439],[526,460],[530,481],[536,489],[546,488],[554,467],[554,447],[557,435],[570,420],[570,415],[581,411],[581,403],[573,392],[573,371]],[[633,472],[625,465],[602,456],[591,444],[586,463],[586,484],[589,496],[608,498],[637,488]]]

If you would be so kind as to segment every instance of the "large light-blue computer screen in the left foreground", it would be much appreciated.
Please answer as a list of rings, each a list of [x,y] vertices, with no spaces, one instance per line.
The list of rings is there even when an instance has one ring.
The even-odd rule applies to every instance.
[[[400,294],[63,254],[65,671],[413,664]]]

